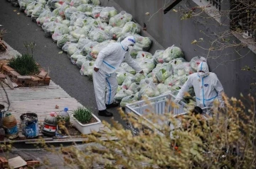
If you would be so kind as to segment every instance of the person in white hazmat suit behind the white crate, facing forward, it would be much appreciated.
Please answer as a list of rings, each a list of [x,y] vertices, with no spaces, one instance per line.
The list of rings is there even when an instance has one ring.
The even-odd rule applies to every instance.
[[[199,71],[204,71],[204,73]],[[192,86],[196,94],[196,103],[199,107],[211,107],[215,99],[218,99],[220,102],[220,107],[224,107],[222,98],[222,93],[224,92],[223,86],[216,74],[209,72],[206,62],[201,62],[198,65],[197,73],[188,76],[188,80],[183,84],[176,96],[176,103],[183,98],[184,93]]]

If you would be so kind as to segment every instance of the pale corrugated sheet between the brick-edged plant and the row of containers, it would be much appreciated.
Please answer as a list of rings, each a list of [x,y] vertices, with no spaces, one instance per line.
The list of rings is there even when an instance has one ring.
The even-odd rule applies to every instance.
[[[4,88],[6,93],[4,92]],[[60,112],[64,107],[68,107],[70,112],[82,107],[75,98],[70,97],[63,88],[50,81],[50,86],[24,87],[14,88],[13,90],[4,84],[4,88],[0,86],[0,104],[8,107],[9,111],[20,122],[20,116],[26,112],[36,112],[38,121],[43,121],[50,112]],[[59,106],[59,109],[55,108]]]

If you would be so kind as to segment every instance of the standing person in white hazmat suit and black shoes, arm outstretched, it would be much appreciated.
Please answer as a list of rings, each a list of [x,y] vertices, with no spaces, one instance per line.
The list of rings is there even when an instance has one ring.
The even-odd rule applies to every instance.
[[[122,62],[127,62],[132,69],[140,74],[144,73],[139,64],[129,54],[134,44],[134,36],[128,36],[122,42],[114,42],[107,45],[97,56],[92,76],[97,108],[99,110],[98,115],[100,116],[112,117],[112,112],[108,112],[107,108],[119,105],[113,102],[118,87],[115,71]],[[107,93],[105,95],[106,88]]]

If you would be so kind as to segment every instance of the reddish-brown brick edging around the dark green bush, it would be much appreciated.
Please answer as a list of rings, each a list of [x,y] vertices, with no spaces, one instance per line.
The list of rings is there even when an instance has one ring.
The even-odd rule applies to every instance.
[[[21,76],[17,71],[12,69],[10,66],[4,64],[1,67],[1,71],[11,78],[18,87],[30,87],[30,86],[48,86],[50,84],[50,76],[47,71],[39,69],[40,73],[33,76]]]

